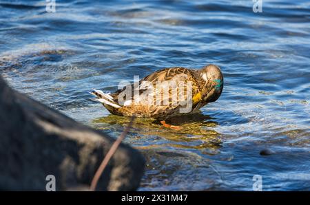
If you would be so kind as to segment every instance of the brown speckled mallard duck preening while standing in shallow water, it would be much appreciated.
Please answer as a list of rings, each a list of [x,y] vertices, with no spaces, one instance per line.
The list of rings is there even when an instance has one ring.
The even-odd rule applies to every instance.
[[[209,102],[216,101],[223,90],[223,74],[216,65],[201,69],[168,67],[149,74],[113,94],[94,89],[92,98],[101,102],[111,114],[165,120],[193,114]]]

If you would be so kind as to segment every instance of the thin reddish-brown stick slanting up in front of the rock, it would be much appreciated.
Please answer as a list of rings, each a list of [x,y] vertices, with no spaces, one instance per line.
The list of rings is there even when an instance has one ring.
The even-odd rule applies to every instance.
[[[117,138],[117,140],[115,140],[115,142],[112,144],[112,147],[107,152],[107,155],[105,155],[105,158],[103,159],[103,161],[101,162],[99,168],[97,169],[97,171],[96,171],[96,173],[94,175],[94,178],[92,178],[92,184],[90,184],[90,190],[91,191],[95,191],[96,190],[97,183],[98,183],[99,178],[101,177],[103,171],[105,170],[105,166],[107,166],[107,163],[112,158],[112,155],[114,155],[114,153],[115,153],[116,149],[118,148],[119,144],[121,144],[121,142],[125,138],[126,134],[128,133],[128,131],[132,127],[132,122],[134,122],[134,116],[130,119],[130,122],[128,123],[127,127],[125,127],[123,133],[121,133],[121,136],[119,136]]]

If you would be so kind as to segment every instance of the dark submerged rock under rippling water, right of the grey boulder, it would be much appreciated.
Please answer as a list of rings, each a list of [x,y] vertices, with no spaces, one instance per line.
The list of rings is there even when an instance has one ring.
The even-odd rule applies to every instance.
[[[141,191],[214,190],[223,184],[212,163],[194,152],[146,149],[142,153],[147,166]]]

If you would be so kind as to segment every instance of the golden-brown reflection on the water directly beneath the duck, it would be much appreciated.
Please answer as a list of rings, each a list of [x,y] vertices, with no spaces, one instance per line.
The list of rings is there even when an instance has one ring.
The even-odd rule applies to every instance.
[[[185,116],[184,122],[180,119],[169,119],[170,124],[180,125],[181,130],[169,129],[163,127],[157,120],[150,118],[136,118],[132,126],[132,132],[140,143],[134,139],[134,147],[138,149],[150,149],[158,147],[175,147],[180,149],[215,149],[220,147],[220,134],[213,129],[216,122],[212,122],[209,116],[201,113],[191,116]],[[96,129],[110,130],[111,125],[114,128],[123,129],[130,122],[129,117],[109,115],[103,118],[97,118],[93,121],[92,126]],[[138,136],[138,137],[137,137]],[[162,138],[154,141],[153,138]],[[152,140],[152,143],[149,141]],[[165,143],[163,143],[163,140]],[[159,142],[159,143],[158,143]],[[145,145],[147,144],[147,145]]]

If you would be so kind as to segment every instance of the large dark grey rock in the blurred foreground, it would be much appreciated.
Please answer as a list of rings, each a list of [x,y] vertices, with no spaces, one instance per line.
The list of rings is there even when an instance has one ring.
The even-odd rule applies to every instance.
[[[55,176],[56,191],[87,190],[113,142],[14,91],[0,76],[0,190],[45,191],[47,175]],[[141,153],[121,144],[97,190],[136,190],[144,165]]]

